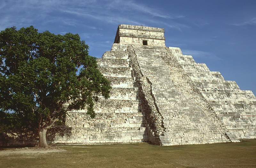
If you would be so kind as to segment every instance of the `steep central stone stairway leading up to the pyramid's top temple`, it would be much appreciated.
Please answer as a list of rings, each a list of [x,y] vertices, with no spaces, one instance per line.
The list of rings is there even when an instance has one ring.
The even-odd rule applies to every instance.
[[[172,84],[170,74],[172,72],[169,71],[161,56],[163,53],[170,54],[170,52],[168,53],[163,47],[133,47],[142,74],[152,83],[152,93],[163,119],[165,133],[164,136],[159,136],[162,145],[229,141],[218,123],[212,121],[195,100],[180,92]]]

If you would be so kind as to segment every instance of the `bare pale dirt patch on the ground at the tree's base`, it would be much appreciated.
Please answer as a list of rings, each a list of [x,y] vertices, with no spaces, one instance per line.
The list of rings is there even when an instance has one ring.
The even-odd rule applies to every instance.
[[[63,152],[65,149],[43,149],[43,148],[16,148],[1,150],[0,155],[12,155],[12,154],[42,154],[50,152]]]

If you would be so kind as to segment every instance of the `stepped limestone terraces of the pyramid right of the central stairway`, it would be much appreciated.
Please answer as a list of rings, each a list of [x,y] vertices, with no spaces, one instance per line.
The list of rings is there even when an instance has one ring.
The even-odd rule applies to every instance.
[[[196,63],[179,48],[169,47],[198,91],[237,138],[256,138],[256,98],[252,91],[242,91],[235,81],[226,81],[220,72],[210,71],[205,64]]]

